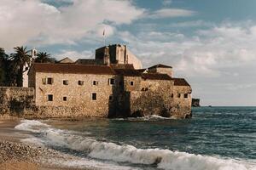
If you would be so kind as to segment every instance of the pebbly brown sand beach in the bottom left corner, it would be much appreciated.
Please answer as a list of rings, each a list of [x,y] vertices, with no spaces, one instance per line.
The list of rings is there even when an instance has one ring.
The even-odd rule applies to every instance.
[[[73,161],[75,157],[38,144],[23,143],[30,134],[15,129],[21,118],[0,117],[0,167],[3,170],[78,170],[57,164],[52,159]],[[89,170],[91,168],[83,168]]]

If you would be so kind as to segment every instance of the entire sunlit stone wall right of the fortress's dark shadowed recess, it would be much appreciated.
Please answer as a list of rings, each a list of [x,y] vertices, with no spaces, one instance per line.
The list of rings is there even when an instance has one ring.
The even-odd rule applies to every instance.
[[[191,88],[173,84],[173,81],[165,80],[142,81],[141,91],[131,91],[127,94],[130,100],[126,105],[130,107],[130,115],[177,118],[191,116]],[[187,94],[187,98],[184,98],[184,94]]]

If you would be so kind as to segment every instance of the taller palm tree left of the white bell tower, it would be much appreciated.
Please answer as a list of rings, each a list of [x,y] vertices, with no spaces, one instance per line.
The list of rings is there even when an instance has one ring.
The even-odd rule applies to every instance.
[[[11,71],[16,75],[16,85],[22,87],[24,66],[31,64],[32,56],[29,54],[31,50],[26,50],[26,47],[16,47],[15,54],[11,54],[12,60]]]

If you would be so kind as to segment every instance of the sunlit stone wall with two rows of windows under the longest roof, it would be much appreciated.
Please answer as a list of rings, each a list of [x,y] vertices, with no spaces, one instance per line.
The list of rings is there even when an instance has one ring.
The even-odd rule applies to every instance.
[[[109,96],[113,95],[115,84],[109,83],[114,75],[85,75],[61,73],[36,73],[36,105],[37,106],[64,106],[76,108],[91,116],[108,116]],[[53,78],[52,84],[47,84],[47,78]],[[46,83],[43,83],[45,82]],[[63,84],[67,81],[67,85]],[[79,81],[84,81],[79,85]],[[96,85],[93,82],[96,81]],[[92,94],[96,94],[96,100]],[[48,95],[53,95],[49,101]],[[65,101],[63,98],[66,98]],[[79,108],[79,109],[78,109]],[[85,113],[84,113],[85,114]]]

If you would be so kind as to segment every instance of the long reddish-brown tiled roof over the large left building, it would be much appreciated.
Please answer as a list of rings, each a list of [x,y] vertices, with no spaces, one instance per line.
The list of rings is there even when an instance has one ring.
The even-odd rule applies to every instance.
[[[36,72],[114,75],[114,71],[106,65],[34,63],[33,68]]]

